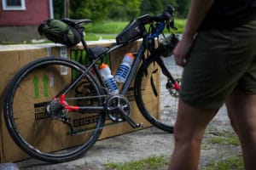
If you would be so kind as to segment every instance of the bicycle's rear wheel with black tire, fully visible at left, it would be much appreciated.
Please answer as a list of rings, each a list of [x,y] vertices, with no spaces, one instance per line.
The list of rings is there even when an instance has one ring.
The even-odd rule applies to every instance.
[[[104,126],[104,113],[90,113],[87,116],[88,114],[84,112],[84,114],[68,112],[74,130],[78,132],[70,135],[67,124],[49,117],[46,112],[46,105],[59,93],[58,90],[71,82],[71,73],[79,74],[84,70],[83,65],[71,59],[46,57],[36,59],[21,68],[9,82],[4,96],[4,120],[12,139],[29,156],[53,163],[71,161],[83,155],[96,143]],[[44,87],[45,83],[37,82],[36,77],[38,81],[49,77],[47,87]],[[84,82],[85,92],[82,92],[84,95],[102,95],[96,77],[93,77],[90,72],[81,81]],[[37,84],[38,87],[36,87]],[[49,88],[48,92],[45,88]],[[68,104],[78,102],[74,91],[72,88],[66,94],[70,99]],[[38,94],[39,98],[36,96]],[[103,103],[101,98],[80,100],[84,105],[102,105]],[[85,120],[91,121],[86,125],[87,127],[81,124],[81,121]]]

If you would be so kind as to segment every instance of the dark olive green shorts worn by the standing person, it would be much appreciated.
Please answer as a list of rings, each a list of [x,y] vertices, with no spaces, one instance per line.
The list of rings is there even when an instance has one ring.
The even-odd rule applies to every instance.
[[[256,20],[228,31],[199,31],[183,71],[180,98],[218,109],[235,90],[256,94]]]

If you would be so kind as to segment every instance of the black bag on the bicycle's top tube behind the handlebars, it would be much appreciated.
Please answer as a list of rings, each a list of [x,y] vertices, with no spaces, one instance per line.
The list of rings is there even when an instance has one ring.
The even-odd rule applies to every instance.
[[[119,33],[115,40],[117,44],[122,44],[135,41],[141,37],[143,37],[143,30],[141,29],[140,23],[133,19],[125,26],[125,29]]]

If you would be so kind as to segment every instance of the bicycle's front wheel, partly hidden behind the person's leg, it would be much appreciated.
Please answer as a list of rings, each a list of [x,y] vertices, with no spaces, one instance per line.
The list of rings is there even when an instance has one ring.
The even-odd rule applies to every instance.
[[[166,132],[173,133],[177,117],[178,94],[174,88],[166,88],[167,77],[161,74],[160,65],[154,62],[154,57],[149,56],[145,59],[137,71],[134,92],[137,96],[136,102],[148,122]],[[175,65],[173,57],[163,59],[165,63],[168,62],[166,66],[172,72],[172,76],[180,82],[182,70]]]

